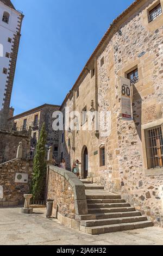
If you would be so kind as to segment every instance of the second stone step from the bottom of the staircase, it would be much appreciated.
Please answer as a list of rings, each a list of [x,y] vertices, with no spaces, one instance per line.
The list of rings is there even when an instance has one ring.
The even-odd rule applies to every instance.
[[[139,221],[147,221],[147,217],[137,216],[137,217],[124,217],[124,218],[109,218],[104,220],[89,220],[89,221],[81,221],[80,225],[84,227],[98,227],[102,225],[122,224],[122,223],[131,223],[131,222],[139,222]]]

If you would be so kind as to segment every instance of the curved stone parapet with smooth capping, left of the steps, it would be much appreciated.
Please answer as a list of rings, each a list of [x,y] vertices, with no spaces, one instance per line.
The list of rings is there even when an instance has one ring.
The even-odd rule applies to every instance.
[[[47,166],[47,198],[54,200],[53,215],[58,219],[62,216],[73,220],[76,215],[88,214],[85,186],[68,170]]]

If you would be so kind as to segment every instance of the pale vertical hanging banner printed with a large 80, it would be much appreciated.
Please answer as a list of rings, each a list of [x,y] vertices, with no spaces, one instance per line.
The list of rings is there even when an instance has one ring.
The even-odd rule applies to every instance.
[[[121,92],[122,118],[131,120],[131,82],[129,79],[121,77]]]

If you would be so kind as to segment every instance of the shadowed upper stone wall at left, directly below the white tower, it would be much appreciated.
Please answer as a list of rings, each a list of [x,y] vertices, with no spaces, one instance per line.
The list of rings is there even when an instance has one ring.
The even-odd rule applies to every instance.
[[[0,163],[16,158],[18,144],[23,143],[23,158],[30,149],[30,139],[27,135],[0,130]]]

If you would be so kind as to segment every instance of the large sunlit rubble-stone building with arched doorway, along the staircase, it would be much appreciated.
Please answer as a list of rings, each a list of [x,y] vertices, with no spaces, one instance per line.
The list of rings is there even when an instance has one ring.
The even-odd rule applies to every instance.
[[[155,223],[163,216],[162,8],[163,0],[136,0],[114,20],[62,103],[75,129],[68,124],[59,143],[69,169],[78,159],[83,178]]]

